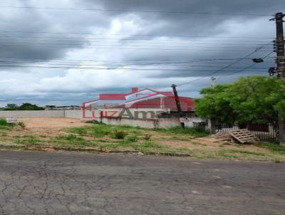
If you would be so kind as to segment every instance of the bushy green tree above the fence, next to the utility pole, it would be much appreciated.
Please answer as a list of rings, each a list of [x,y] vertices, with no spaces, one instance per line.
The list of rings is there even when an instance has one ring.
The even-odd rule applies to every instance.
[[[197,100],[200,117],[219,122],[268,122],[277,120],[277,112],[285,116],[285,83],[271,77],[251,76],[237,82],[205,88]]]

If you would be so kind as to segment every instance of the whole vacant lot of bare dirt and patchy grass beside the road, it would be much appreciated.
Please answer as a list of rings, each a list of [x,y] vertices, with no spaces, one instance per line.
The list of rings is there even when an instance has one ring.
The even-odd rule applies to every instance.
[[[211,138],[197,138],[201,134],[180,128],[147,130],[56,117],[20,118],[19,121],[26,126],[0,126],[0,147],[93,147],[104,152],[183,153],[198,158],[285,162],[285,147],[273,143],[212,142]]]

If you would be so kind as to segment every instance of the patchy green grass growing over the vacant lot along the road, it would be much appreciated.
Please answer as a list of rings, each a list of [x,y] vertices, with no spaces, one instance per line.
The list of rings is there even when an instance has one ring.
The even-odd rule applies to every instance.
[[[2,124],[5,124],[3,121]],[[0,125],[6,127],[6,125]],[[115,136],[115,131],[122,132],[124,138]],[[16,130],[14,130],[16,132]],[[180,127],[171,129],[145,129],[130,126],[110,126],[91,124],[85,127],[73,127],[64,129],[67,135],[50,137],[49,135],[15,135],[14,142],[28,146],[41,145],[51,147],[95,147],[98,150],[118,151],[118,152],[151,152],[161,153],[182,153],[190,154],[192,157],[201,159],[247,159],[247,160],[270,160],[275,162],[285,162],[285,147],[274,143],[257,143],[255,146],[266,148],[266,150],[247,149],[246,145],[239,145],[235,149],[228,149],[227,145],[222,144],[215,149],[209,149],[206,145],[193,142],[193,137],[202,137],[207,132],[193,129],[182,130]],[[9,131],[0,130],[0,136],[7,135]],[[44,139],[41,137],[45,137]],[[9,140],[2,137],[2,140]],[[159,144],[163,140],[180,140],[192,142],[196,145],[195,149],[188,149],[175,145]],[[12,140],[13,141],[13,140]],[[157,142],[156,142],[157,141]],[[199,147],[199,145],[201,147]]]

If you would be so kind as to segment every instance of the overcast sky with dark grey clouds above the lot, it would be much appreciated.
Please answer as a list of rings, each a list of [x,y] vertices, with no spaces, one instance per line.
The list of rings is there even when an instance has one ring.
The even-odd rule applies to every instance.
[[[79,105],[131,87],[199,90],[274,66],[284,0],[2,0],[0,107]],[[231,15],[232,14],[232,15]],[[260,16],[257,16],[260,15]],[[251,58],[264,58],[254,64]]]

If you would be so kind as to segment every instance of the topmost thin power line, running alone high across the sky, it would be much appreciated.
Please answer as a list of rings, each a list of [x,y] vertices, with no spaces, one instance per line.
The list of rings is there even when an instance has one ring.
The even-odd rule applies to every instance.
[[[232,13],[211,13],[211,12],[192,12],[192,11],[142,11],[125,9],[94,9],[94,8],[58,8],[58,7],[39,7],[39,6],[0,6],[2,9],[44,9],[44,10],[76,10],[76,11],[119,11],[119,12],[140,12],[158,14],[197,14],[197,15],[222,15],[222,16],[273,16],[272,14],[232,14]]]

